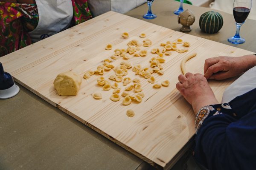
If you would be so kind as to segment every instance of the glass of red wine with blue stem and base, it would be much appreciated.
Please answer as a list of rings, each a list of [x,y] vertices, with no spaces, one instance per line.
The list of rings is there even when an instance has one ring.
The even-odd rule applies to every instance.
[[[252,8],[252,0],[234,0],[233,15],[236,20],[236,35],[229,37],[227,40],[233,44],[242,44],[245,42],[244,38],[240,37],[240,28],[245,22],[246,18]]]

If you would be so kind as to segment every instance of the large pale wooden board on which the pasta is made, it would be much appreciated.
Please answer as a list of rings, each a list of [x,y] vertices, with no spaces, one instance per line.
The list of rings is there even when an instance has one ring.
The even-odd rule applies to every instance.
[[[121,37],[123,32],[128,32],[130,37]],[[86,71],[96,70],[103,59],[111,57],[114,49],[127,48],[126,44],[133,39],[142,42],[143,39],[139,37],[142,32],[152,40],[153,45],[141,47],[148,51],[146,57],[128,59],[132,65],[149,66],[149,59],[156,56],[150,53],[151,49],[162,49],[161,42],[172,42],[181,38],[191,43],[188,52],[179,54],[173,51],[171,56],[164,57],[164,75],[154,74],[157,82],[168,79],[169,87],[154,89],[147,79],[135,75],[130,69],[127,77],[142,80],[145,97],[141,103],[133,102],[124,106],[122,98],[119,102],[112,102],[109,97],[113,89],[103,91],[96,83],[99,75],[83,79],[77,96],[56,94],[53,81],[57,74],[72,70],[82,77]],[[113,50],[105,50],[107,44],[112,44]],[[195,115],[192,108],[176,89],[177,77],[181,74],[181,60],[194,52],[198,55],[186,63],[186,68],[189,72],[201,74],[204,60],[209,57],[252,54],[250,51],[183,34],[110,11],[1,57],[0,62],[15,81],[50,104],[155,167],[166,169],[195,133]],[[114,60],[113,65],[119,65],[121,61],[124,59]],[[108,71],[103,76],[107,79],[111,74],[113,71]],[[219,101],[225,88],[234,80],[209,82]],[[123,91],[122,83],[119,83],[119,86]],[[91,94],[94,92],[101,93],[102,99],[93,99]],[[126,116],[128,109],[134,110],[134,117]]]

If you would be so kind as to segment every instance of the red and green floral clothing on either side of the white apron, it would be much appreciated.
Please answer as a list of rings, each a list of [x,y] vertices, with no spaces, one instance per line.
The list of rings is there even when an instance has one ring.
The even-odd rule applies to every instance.
[[[87,0],[71,0],[73,20],[77,25],[92,18]],[[38,24],[35,4],[0,2],[0,57],[30,45],[28,32]]]

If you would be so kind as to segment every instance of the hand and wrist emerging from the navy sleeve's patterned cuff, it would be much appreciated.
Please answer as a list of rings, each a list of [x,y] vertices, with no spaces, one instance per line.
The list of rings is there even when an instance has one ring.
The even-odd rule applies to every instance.
[[[187,73],[180,75],[176,88],[192,105],[195,113],[206,105],[218,104],[207,79],[202,74]]]

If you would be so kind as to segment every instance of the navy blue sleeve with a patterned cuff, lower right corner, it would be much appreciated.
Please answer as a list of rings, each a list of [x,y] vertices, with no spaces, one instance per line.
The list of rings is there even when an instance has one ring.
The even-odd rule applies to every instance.
[[[195,158],[207,169],[256,168],[256,107],[238,117],[229,104],[209,105],[198,112]]]

